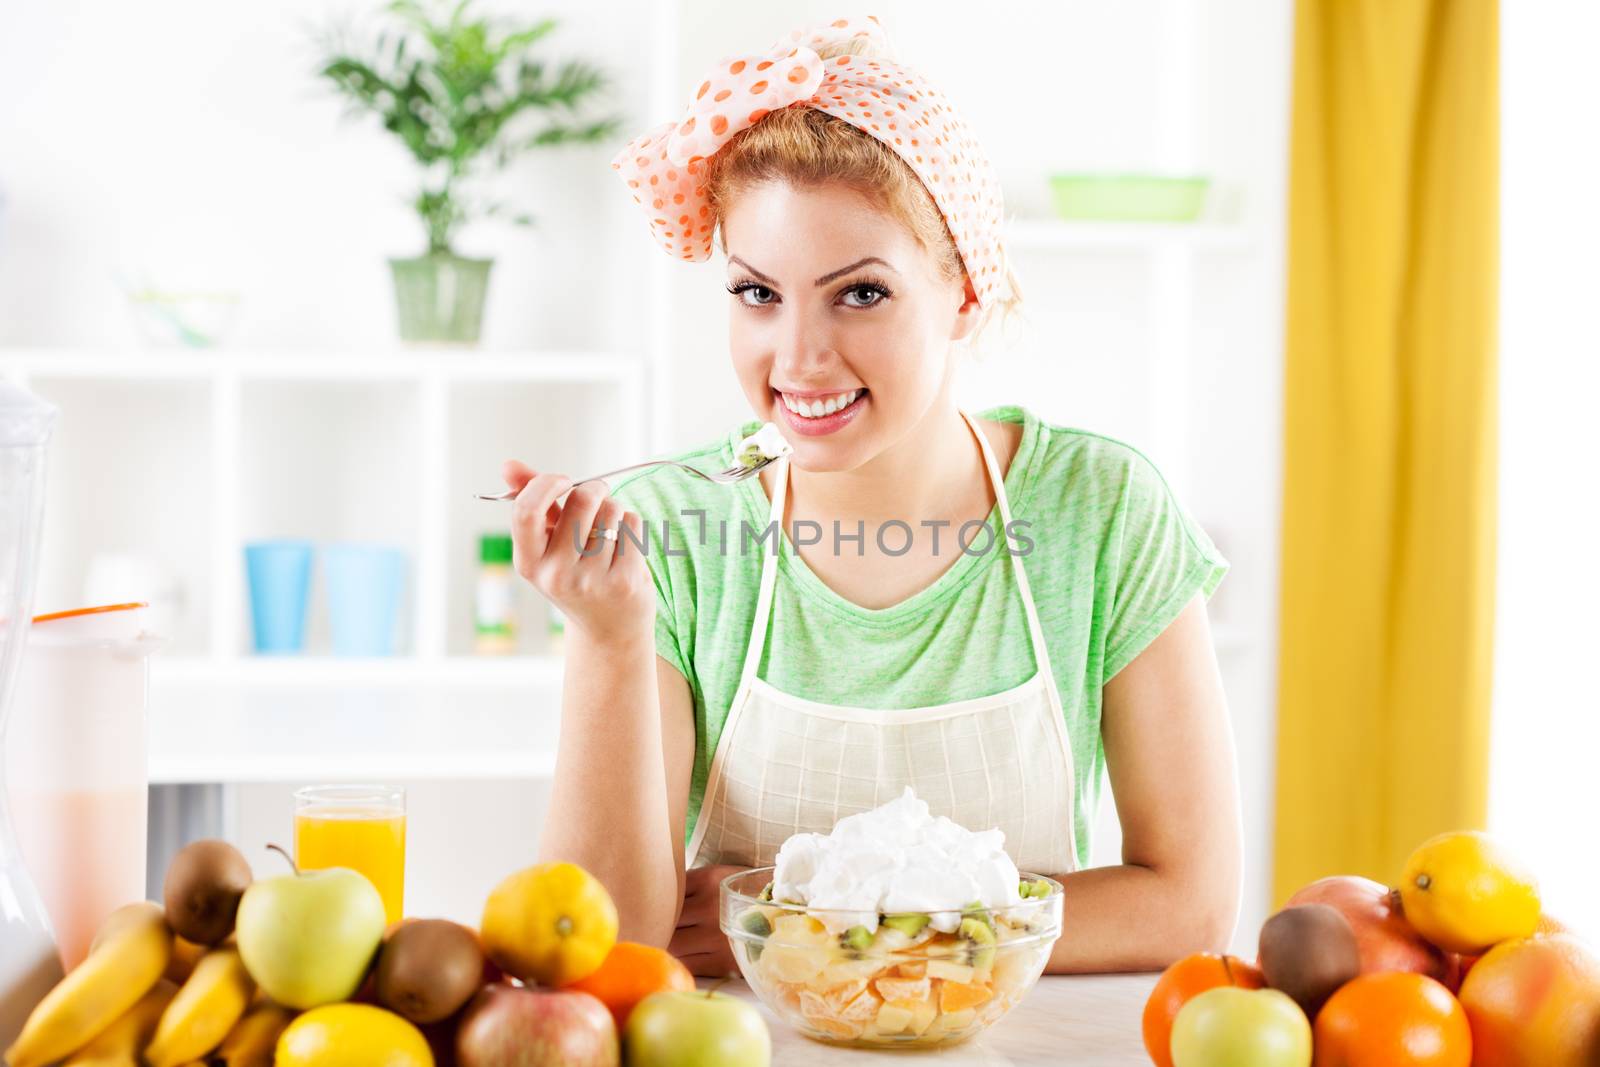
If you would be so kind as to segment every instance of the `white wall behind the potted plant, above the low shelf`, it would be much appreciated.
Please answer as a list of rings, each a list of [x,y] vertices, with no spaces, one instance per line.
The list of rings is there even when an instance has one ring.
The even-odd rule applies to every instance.
[[[134,338],[118,275],[245,294],[238,347],[387,347],[386,256],[422,250],[411,158],[314,77],[314,30],[373,5],[283,0],[61,0],[0,21],[0,344],[120,346]],[[499,8],[520,8],[499,2]],[[640,10],[643,5],[638,5]],[[614,74],[613,109],[640,122],[646,19],[541,3],[550,56]],[[611,253],[634,205],[613,146],[536,154],[501,182],[538,226],[469,229],[498,262],[488,347],[638,346],[613,314],[642,266]],[[611,189],[616,184],[616,189]]]

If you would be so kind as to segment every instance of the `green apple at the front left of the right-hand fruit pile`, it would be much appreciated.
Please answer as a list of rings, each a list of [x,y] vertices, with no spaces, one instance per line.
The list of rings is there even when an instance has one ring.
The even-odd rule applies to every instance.
[[[1275,989],[1219,985],[1173,1019],[1173,1067],[1310,1067],[1310,1022]]]

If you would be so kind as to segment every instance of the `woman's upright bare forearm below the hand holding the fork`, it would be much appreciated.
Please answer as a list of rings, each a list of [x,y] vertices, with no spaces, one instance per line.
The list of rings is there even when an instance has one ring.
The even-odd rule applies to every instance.
[[[622,939],[664,945],[680,901],[672,841],[653,635],[597,643],[573,632],[539,853],[605,883]]]

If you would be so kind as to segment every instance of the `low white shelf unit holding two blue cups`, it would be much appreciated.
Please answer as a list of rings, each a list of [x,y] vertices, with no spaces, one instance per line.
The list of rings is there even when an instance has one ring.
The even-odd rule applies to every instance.
[[[562,664],[530,585],[518,585],[518,654],[472,654],[477,536],[509,526],[507,504],[472,493],[502,485],[509,458],[584,475],[648,451],[638,357],[13,349],[0,373],[62,413],[38,609],[80,606],[102,550],[155,555],[186,590],[152,661],[152,781],[277,781],[341,758],[376,777],[549,771]],[[280,536],[405,549],[397,656],[328,654],[317,565],[307,653],[253,654],[243,545]],[[322,728],[282,729],[293,707],[318,707]],[[518,734],[512,713],[544,733]],[[506,721],[438,729],[467,715]],[[306,750],[262,747],[262,729]],[[386,757],[373,737],[397,734],[430,747]]]

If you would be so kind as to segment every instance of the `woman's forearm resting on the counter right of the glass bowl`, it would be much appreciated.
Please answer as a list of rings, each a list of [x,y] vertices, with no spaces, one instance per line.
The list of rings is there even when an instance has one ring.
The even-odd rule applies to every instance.
[[[1237,894],[1150,867],[1091,867],[1061,878],[1061,939],[1046,971],[1160,971],[1192,952],[1224,952]]]

